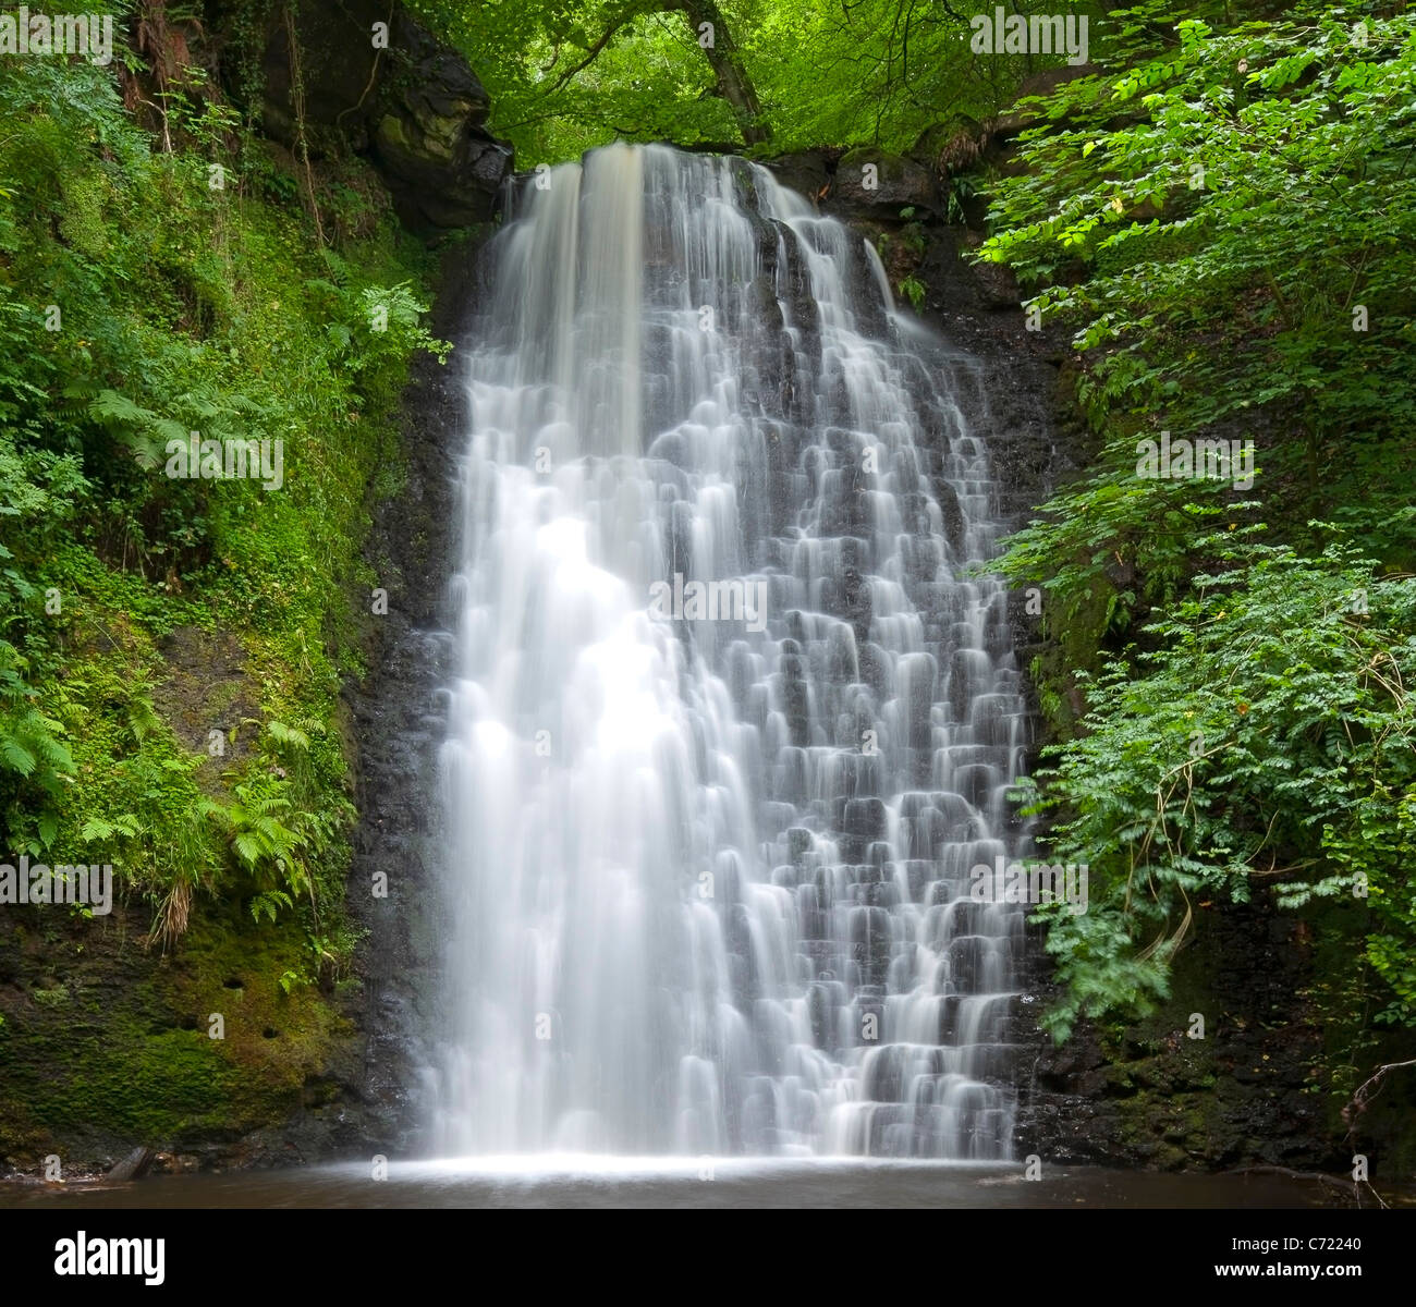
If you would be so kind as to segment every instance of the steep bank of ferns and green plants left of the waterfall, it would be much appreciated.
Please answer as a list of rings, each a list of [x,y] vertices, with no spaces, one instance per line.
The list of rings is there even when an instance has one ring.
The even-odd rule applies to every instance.
[[[337,700],[425,255],[354,160],[321,244],[201,69],[153,135],[119,59],[0,61],[0,850],[112,862],[163,943],[201,892],[297,919],[313,976],[351,943]],[[280,477],[164,474],[193,432]]]

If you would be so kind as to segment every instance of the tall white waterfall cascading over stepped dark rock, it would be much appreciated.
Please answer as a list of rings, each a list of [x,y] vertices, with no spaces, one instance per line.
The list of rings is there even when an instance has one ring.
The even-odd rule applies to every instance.
[[[545,180],[473,346],[438,1147],[1007,1158],[976,372],[760,167]]]

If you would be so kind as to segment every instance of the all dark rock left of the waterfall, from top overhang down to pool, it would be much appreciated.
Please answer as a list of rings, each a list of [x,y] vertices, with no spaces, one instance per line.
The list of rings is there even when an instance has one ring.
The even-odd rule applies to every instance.
[[[312,152],[336,135],[367,153],[413,231],[474,228],[445,266],[433,331],[457,340],[476,299],[477,238],[486,234],[513,152],[484,130],[487,93],[460,54],[439,45],[394,7],[387,50],[375,24],[382,0],[338,6],[303,0],[296,11],[299,78]],[[265,57],[263,122],[293,143],[295,74],[289,34],[272,25]],[[456,360],[456,354],[453,355]],[[351,916],[368,930],[350,1017],[355,1037],[334,1095],[341,1131],[312,1140],[313,1155],[406,1155],[426,1119],[418,1068],[428,1063],[438,971],[435,867],[439,848],[438,691],[449,675],[450,613],[443,609],[455,520],[456,457],[464,398],[456,361],[422,355],[404,411],[406,483],[378,507],[365,557],[387,612],[371,615],[370,671],[347,700],[358,739],[360,824],[348,879]],[[372,606],[372,605],[371,605]],[[299,1120],[283,1131],[302,1133]]]

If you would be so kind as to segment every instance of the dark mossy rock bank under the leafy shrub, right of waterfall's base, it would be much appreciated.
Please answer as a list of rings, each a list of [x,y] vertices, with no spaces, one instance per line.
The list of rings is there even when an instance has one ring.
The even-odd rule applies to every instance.
[[[1323,1032],[1298,997],[1311,959],[1294,918],[1264,903],[1201,912],[1160,1011],[1082,1022],[1062,1046],[1037,1027],[1054,997],[1041,937],[1029,960],[1020,1038],[1032,1039],[1037,1058],[1021,1069],[1020,1157],[1163,1170],[1351,1167],[1352,1150],[1340,1146],[1310,1079]]]

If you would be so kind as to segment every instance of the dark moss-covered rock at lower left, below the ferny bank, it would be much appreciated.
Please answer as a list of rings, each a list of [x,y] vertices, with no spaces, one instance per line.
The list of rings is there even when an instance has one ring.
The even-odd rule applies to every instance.
[[[183,949],[156,967],[129,925],[108,930],[86,956],[75,952],[81,932],[69,932],[58,964],[81,987],[71,978],[69,988],[31,990],[33,1004],[7,1001],[0,1154],[33,1153],[35,1138],[98,1136],[110,1150],[234,1140],[300,1107],[307,1082],[350,1034],[317,988],[283,993],[280,976],[306,949],[293,923],[256,928],[235,913],[201,913]],[[34,969],[55,964],[38,937],[23,956]],[[313,1100],[333,1092],[324,1086]]]

